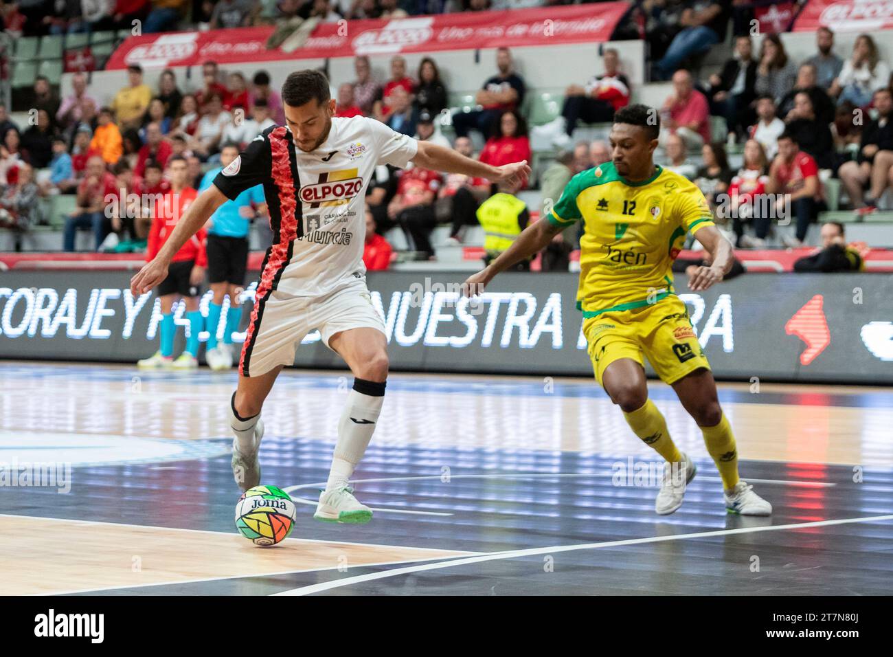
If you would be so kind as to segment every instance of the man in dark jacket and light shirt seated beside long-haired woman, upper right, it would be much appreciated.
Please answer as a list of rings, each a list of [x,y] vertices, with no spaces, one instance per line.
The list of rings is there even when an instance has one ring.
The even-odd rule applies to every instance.
[[[754,122],[756,61],[750,37],[735,38],[735,56],[727,60],[719,75],[710,76],[710,114],[726,120],[729,134],[737,140]]]

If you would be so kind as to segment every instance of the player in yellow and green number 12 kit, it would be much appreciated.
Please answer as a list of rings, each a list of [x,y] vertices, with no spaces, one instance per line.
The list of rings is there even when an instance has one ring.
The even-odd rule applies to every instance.
[[[772,505],[739,479],[735,436],[672,282],[672,261],[688,232],[712,257],[710,266],[699,267],[691,276],[692,291],[722,281],[732,265],[731,244],[716,229],[701,191],[654,164],[659,132],[654,109],[630,105],[619,110],[611,130],[612,161],[575,175],[552,212],[472,275],[465,282],[466,293],[482,291],[496,274],[545,248],[573,223],[583,222],[577,300],[597,381],[620,406],[633,433],[682,473],[672,476],[674,470],[668,468],[655,511],[666,515],[680,508],[696,467],[672,442],[663,415],[648,399],[643,358],[672,385],[704,434],[722,477],[726,509],[768,516]]]

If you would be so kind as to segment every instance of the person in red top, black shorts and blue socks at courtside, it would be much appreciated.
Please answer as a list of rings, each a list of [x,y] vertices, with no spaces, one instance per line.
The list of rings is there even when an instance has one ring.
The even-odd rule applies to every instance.
[[[198,192],[187,184],[186,159],[173,156],[168,160],[168,174],[171,189],[163,193],[153,204],[152,228],[149,230],[146,261],[151,261],[164,242],[170,237],[179,218],[188,206],[196,200]],[[202,330],[202,313],[198,309],[199,285],[204,281],[204,268],[208,258],[204,250],[205,232],[200,229],[177,251],[171,259],[168,276],[156,288],[162,305],[161,349],[154,356],[138,362],[140,367],[174,367],[194,369],[198,366],[198,333]],[[176,324],[173,318],[173,304],[178,297],[186,303],[186,316],[189,321],[189,335],[186,350],[176,360],[173,359],[173,341]]]

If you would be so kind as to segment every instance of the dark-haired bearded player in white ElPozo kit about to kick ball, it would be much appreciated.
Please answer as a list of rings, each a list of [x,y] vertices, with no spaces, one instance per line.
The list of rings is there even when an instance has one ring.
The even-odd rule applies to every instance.
[[[412,162],[499,182],[526,180],[530,166],[525,161],[495,167],[416,141],[371,118],[334,117],[335,99],[321,72],[289,75],[282,104],[286,125],[263,131],[217,175],[154,260],[133,277],[130,289],[134,295],[152,290],[167,276],[171,257],[218,206],[263,184],[273,241],[263,260],[238,388],[230,400],[233,474],[242,490],[260,483],[263,400],[282,367],[294,364],[304,336],[319,329],[355,379],[338,420],[329,481],[313,517],[364,523],[372,511],[356,500],[348,479],[375,430],[388,378],[388,343],[363,265],[364,197],[375,167]]]

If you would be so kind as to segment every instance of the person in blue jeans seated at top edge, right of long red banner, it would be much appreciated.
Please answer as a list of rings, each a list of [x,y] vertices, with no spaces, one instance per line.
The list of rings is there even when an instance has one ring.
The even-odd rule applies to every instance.
[[[667,80],[689,57],[708,51],[725,40],[731,8],[727,3],[704,0],[686,6],[680,17],[681,31],[672,39],[655,73]]]

